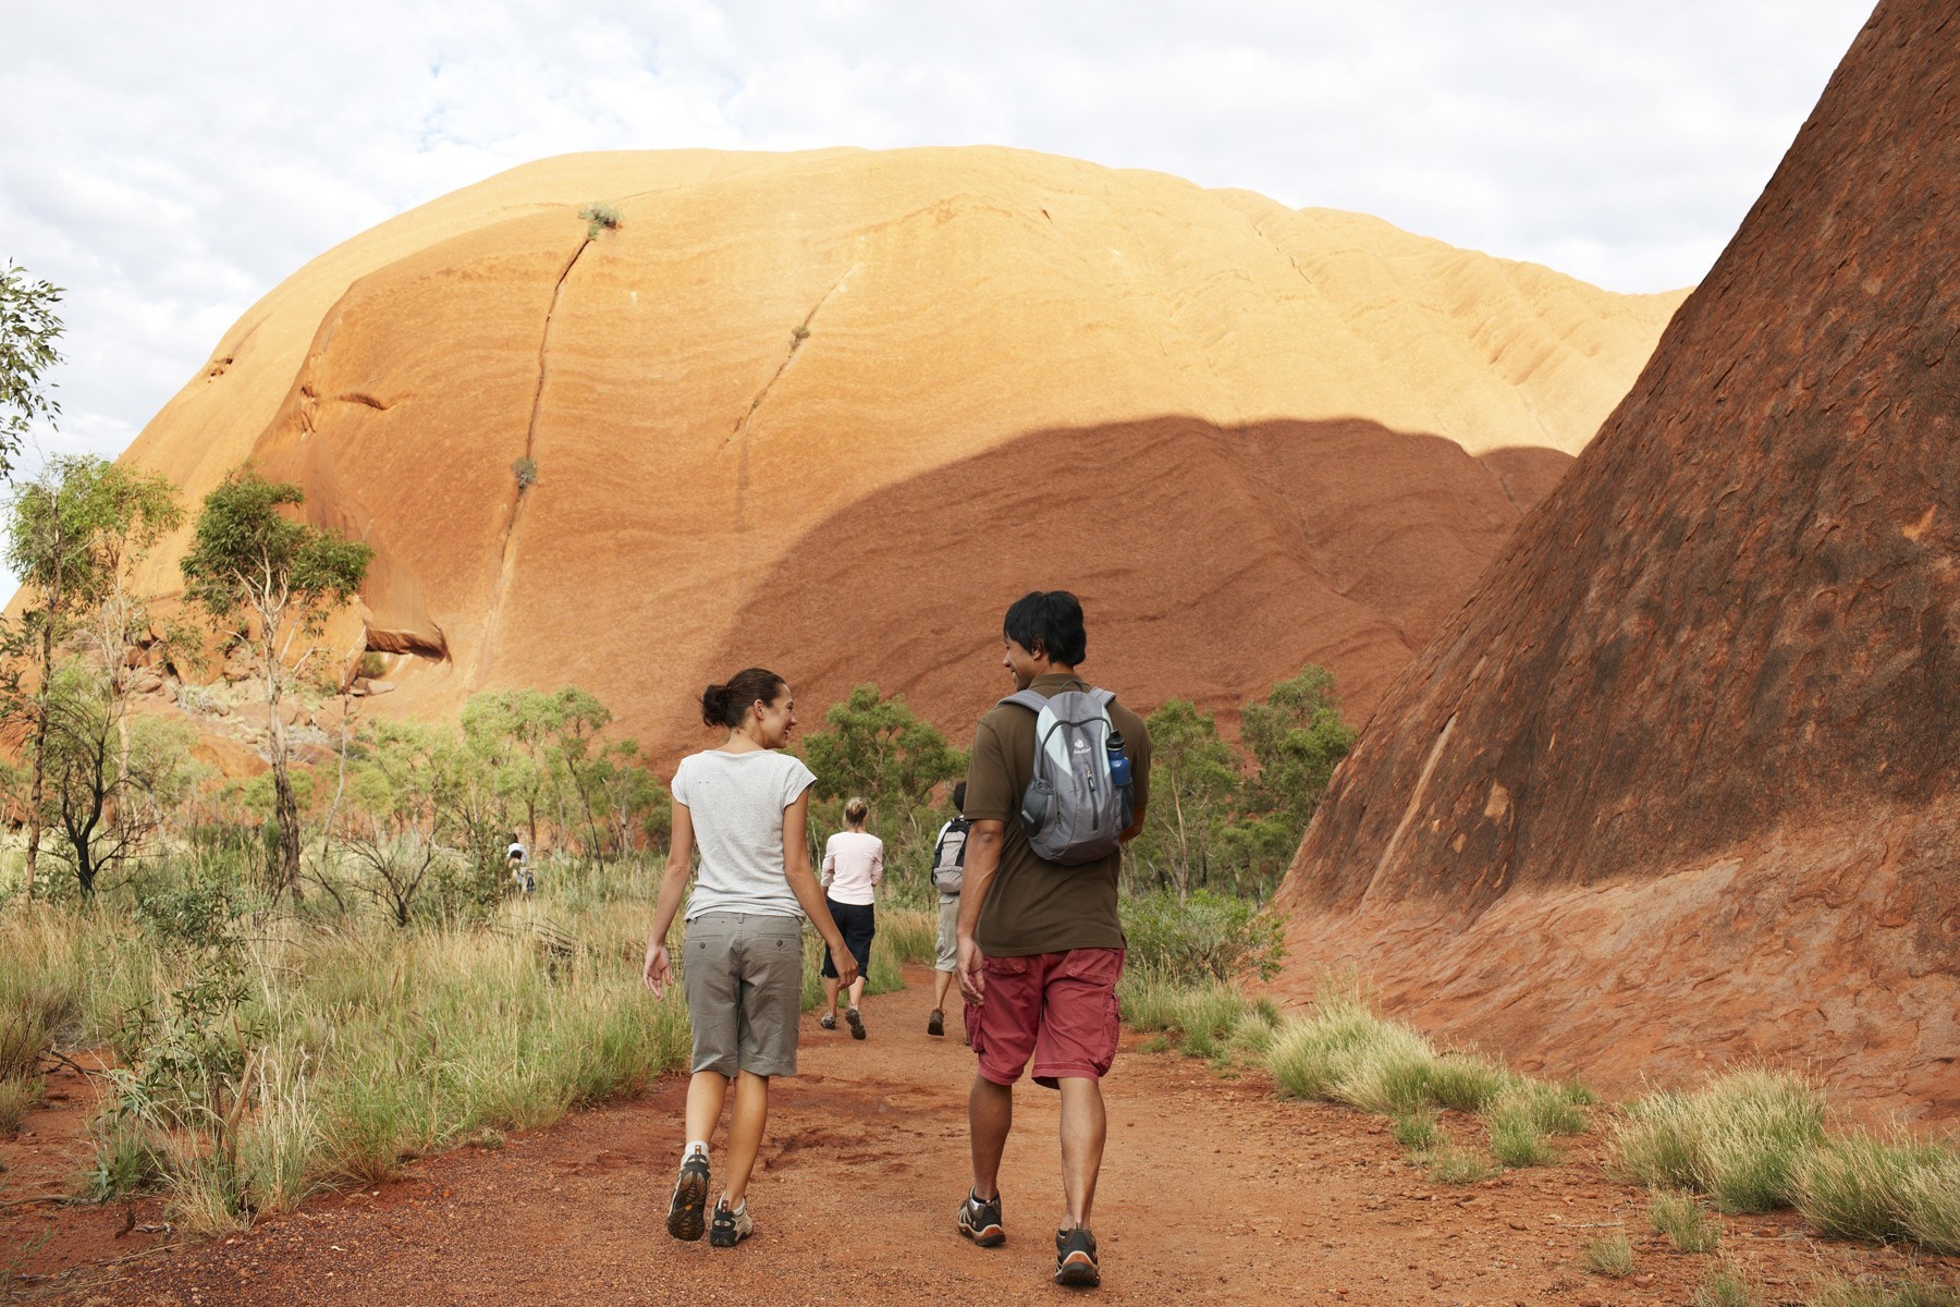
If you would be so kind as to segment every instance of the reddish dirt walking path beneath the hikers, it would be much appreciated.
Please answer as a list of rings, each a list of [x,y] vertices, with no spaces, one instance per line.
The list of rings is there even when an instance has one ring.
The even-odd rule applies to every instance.
[[[319,1199],[249,1234],[78,1266],[22,1293],[102,1307],[1068,1297],[1049,1282],[1062,1209],[1056,1095],[1025,1082],[1015,1093],[1002,1178],[1007,1244],[960,1240],[953,1213],[968,1182],[972,1054],[956,1033],[925,1035],[929,972],[907,978],[904,993],[866,1003],[864,1042],[806,1017],[804,1074],[776,1086],[749,1191],[757,1234],[739,1248],[666,1236],[682,1144],[682,1082],[672,1080],[496,1150],[417,1162],[398,1182]],[[1137,1042],[1125,1037],[1105,1082],[1096,1301],[1688,1303],[1715,1266],[1648,1229],[1646,1195],[1603,1176],[1597,1129],[1572,1142],[1562,1166],[1435,1186],[1380,1119],[1282,1101],[1262,1078],[1225,1080],[1205,1062],[1137,1052]],[[1482,1142],[1468,1119],[1452,1115],[1450,1129],[1460,1142]],[[0,1233],[18,1236],[31,1219],[14,1217]],[[108,1248],[125,1217],[120,1207],[65,1209],[59,1221],[100,1225]],[[1633,1240],[1633,1278],[1586,1272],[1584,1246],[1613,1231]],[[1905,1264],[1813,1242],[1788,1213],[1729,1219],[1725,1252],[1764,1285],[1766,1303],[1801,1301],[1823,1270],[1895,1274]],[[1929,1270],[1952,1282],[1960,1262]]]

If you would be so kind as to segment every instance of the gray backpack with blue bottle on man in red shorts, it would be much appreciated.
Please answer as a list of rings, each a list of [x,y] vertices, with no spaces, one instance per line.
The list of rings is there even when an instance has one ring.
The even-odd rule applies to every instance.
[[[1035,856],[1062,866],[1107,858],[1133,817],[1131,788],[1109,778],[1107,690],[1009,694],[1035,713],[1035,776],[1021,796],[1021,829]]]

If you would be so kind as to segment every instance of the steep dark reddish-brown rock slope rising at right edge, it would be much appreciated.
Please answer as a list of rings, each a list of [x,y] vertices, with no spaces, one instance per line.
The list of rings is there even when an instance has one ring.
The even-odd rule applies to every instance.
[[[1607,1088],[1960,1113],[1960,10],[1884,0],[1633,392],[1409,662],[1292,984]]]

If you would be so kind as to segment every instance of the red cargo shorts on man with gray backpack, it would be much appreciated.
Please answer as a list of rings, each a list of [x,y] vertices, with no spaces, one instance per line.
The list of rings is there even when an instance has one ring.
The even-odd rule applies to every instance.
[[[1035,1058],[1035,1084],[1102,1080],[1115,1062],[1121,1021],[1115,982],[1121,948],[1070,948],[1027,958],[986,958],[984,1001],[966,1005],[966,1037],[980,1074],[998,1086],[1021,1078]]]

